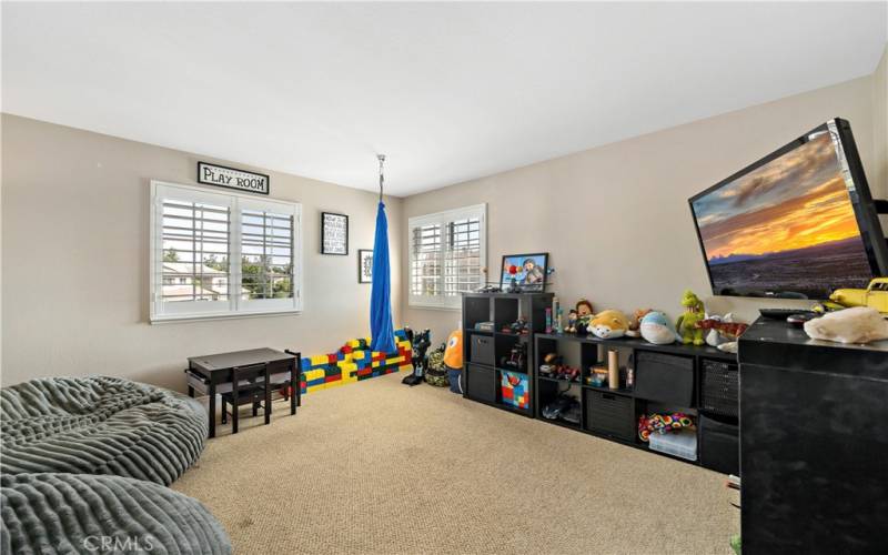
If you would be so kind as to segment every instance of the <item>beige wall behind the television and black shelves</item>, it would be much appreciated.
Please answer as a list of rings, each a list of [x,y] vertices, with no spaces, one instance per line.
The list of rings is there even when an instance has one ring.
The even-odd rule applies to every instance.
[[[563,302],[585,296],[596,311],[675,315],[690,287],[710,310],[750,319],[761,301],[710,296],[687,199],[835,117],[851,122],[871,174],[872,83],[861,78],[410,196],[403,226],[410,216],[486,202],[487,263],[498,266],[504,253],[549,252],[552,290]],[[430,326],[434,341],[444,341],[458,313],[408,307],[403,272],[404,322]]]

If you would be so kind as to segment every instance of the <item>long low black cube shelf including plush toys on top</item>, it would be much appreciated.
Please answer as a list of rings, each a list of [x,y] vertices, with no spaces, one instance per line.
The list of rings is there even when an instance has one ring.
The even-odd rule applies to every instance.
[[[678,322],[689,341],[685,344],[663,313],[648,317],[650,311],[638,311],[634,319],[610,310],[593,314],[588,301],[581,303],[562,326],[555,301],[547,311],[548,330],[534,335],[536,416],[737,474],[737,356],[714,346],[726,337],[708,336],[719,321],[707,319],[702,303],[686,292],[686,313]],[[745,326],[725,329],[741,333]],[[720,435],[702,432],[704,423]]]

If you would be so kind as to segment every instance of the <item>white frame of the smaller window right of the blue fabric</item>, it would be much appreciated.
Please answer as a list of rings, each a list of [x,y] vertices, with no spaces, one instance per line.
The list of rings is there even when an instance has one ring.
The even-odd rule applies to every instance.
[[[407,306],[417,309],[440,309],[440,310],[462,310],[462,295],[447,296],[445,294],[444,275],[445,275],[445,252],[447,249],[446,226],[448,223],[458,220],[468,220],[477,218],[481,222],[478,225],[478,242],[481,244],[478,260],[481,266],[482,285],[486,281],[487,274],[487,204],[473,204],[470,206],[462,206],[434,214],[424,214],[410,218],[407,220]],[[424,225],[441,225],[442,243],[441,249],[437,251],[437,261],[442,269],[440,276],[438,290],[441,294],[437,295],[414,295],[413,294],[413,266],[415,262],[415,253],[413,252],[413,230]]]

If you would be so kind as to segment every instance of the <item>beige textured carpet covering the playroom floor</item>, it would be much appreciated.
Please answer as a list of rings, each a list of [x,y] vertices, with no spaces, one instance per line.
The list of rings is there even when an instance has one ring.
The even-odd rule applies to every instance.
[[[724,475],[400,382],[276,402],[173,488],[239,554],[730,553]]]

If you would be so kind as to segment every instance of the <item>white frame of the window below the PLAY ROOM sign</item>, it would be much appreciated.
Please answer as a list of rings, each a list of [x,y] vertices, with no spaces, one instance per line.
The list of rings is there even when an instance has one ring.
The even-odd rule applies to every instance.
[[[163,220],[162,199],[186,202],[205,202],[229,209],[229,293],[228,301],[180,301],[163,302],[163,279],[158,275],[158,266],[163,264]],[[151,180],[149,203],[149,322],[225,320],[263,316],[274,314],[297,314],[303,310],[302,291],[305,270],[302,249],[302,204],[281,199],[262,198],[236,193],[212,191],[203,186],[185,185],[167,181]],[[293,296],[287,299],[243,300],[241,280],[242,210],[264,210],[293,216]],[[212,303],[212,305],[210,304]],[[195,310],[196,309],[196,310]]]

